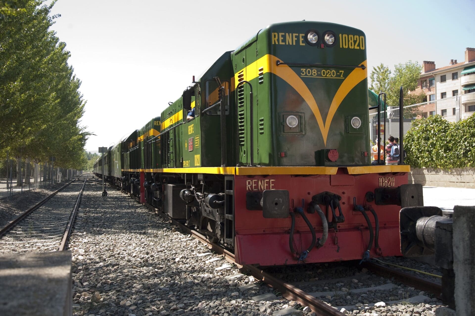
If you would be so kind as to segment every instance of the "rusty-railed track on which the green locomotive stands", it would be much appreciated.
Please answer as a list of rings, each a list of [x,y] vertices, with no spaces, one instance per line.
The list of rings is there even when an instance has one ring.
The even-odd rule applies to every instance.
[[[135,197],[134,197],[135,198]],[[135,198],[137,199],[137,198]],[[149,205],[146,205],[155,213],[159,214],[161,217],[164,217],[167,220],[170,220],[171,223],[175,226],[180,227],[183,232],[186,232],[202,243],[208,244],[210,251],[221,254],[228,262],[235,263],[234,261],[234,254],[229,252],[227,249],[223,248],[219,244],[210,243],[205,235],[201,235],[199,232],[191,230],[189,227],[185,226],[184,224],[171,219],[167,215],[159,212],[156,208],[153,208]],[[356,270],[356,263],[354,264],[354,270]],[[442,286],[440,283],[433,282],[426,280],[424,278],[418,277],[417,275],[410,274],[407,272],[399,271],[397,269],[387,267],[378,263],[374,262],[363,262],[363,265],[359,266],[358,269],[365,269],[371,272],[372,274],[368,273],[357,273],[357,275],[349,275],[344,278],[340,279],[328,279],[328,280],[318,280],[314,282],[290,282],[288,280],[283,280],[285,278],[280,278],[279,273],[271,272],[272,269],[263,269],[261,267],[256,267],[253,265],[238,265],[239,268],[242,268],[244,271],[248,271],[258,280],[264,281],[267,285],[271,286],[276,291],[280,292],[281,295],[288,299],[298,302],[301,306],[308,306],[316,315],[322,316],[343,316],[348,315],[340,312],[342,308],[348,310],[352,306],[357,309],[364,310],[364,312],[371,312],[374,309],[374,304],[371,302],[367,302],[368,304],[338,304],[331,302],[335,296],[343,296],[347,299],[354,298],[354,294],[358,293],[358,296],[367,295],[366,293],[384,293],[386,290],[390,289],[399,289],[399,291],[404,290],[402,286],[395,284],[395,282],[403,283],[405,288],[407,289],[408,286],[413,286],[415,289],[426,291],[435,297],[440,297],[440,293],[442,290]],[[363,270],[363,271],[365,271]],[[365,279],[370,279],[380,283],[380,286],[377,287],[366,287]],[[326,287],[323,288],[321,291],[312,291],[312,288],[315,289],[315,284],[336,284],[338,288],[342,288],[347,286],[348,288],[344,288],[343,291],[339,291],[335,288],[331,290]],[[351,283],[354,283],[353,287]],[[349,284],[349,285],[347,285]],[[329,286],[330,287],[330,286]],[[355,289],[357,287],[357,289]],[[403,294],[404,296],[404,294]],[[404,299],[381,299],[381,301],[386,301],[385,303],[390,304],[397,304],[398,301],[402,301],[404,304],[407,303],[418,303],[418,299],[422,302],[425,296],[419,295],[414,297],[413,299],[409,297],[404,297]],[[331,298],[331,299],[330,299]],[[427,297],[426,297],[427,298]],[[330,301],[330,302],[329,302]],[[354,300],[353,300],[354,302]]]

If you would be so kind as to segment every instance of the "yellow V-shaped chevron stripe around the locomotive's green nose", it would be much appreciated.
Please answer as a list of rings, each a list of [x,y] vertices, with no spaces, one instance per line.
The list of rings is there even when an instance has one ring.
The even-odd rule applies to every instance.
[[[277,61],[283,62],[280,58],[277,58],[274,55],[266,54],[259,58],[254,63],[246,66],[245,68],[241,69],[234,75],[234,82],[239,84],[242,80],[253,80],[259,76],[259,72],[266,73],[271,72],[280,78],[282,78],[285,82],[287,82],[291,87],[297,91],[302,98],[307,102],[308,106],[314,113],[314,116],[317,120],[318,126],[320,128],[320,132],[322,133],[323,143],[326,145],[328,132],[330,131],[330,125],[332,124],[333,116],[336,113],[336,110],[340,107],[343,99],[346,95],[362,80],[368,77],[368,71],[366,69],[355,68],[348,77],[342,82],[340,88],[335,93],[333,97],[332,104],[330,105],[330,109],[328,111],[328,115],[326,117],[325,123],[323,123],[322,114],[320,113],[320,109],[318,108],[317,102],[314,99],[312,92],[308,89],[307,85],[302,81],[302,79],[295,73],[292,68],[287,65],[279,65],[277,66]],[[361,65],[366,66],[366,61],[361,63]],[[259,71],[259,68],[262,68]],[[239,78],[242,78],[239,80]]]

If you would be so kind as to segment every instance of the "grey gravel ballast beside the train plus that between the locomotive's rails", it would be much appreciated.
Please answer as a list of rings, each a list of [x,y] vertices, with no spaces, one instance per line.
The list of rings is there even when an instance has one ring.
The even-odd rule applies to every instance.
[[[232,264],[209,253],[207,246],[143,207],[127,194],[86,183],[69,248],[73,255],[75,315],[314,315],[279,292],[242,275]],[[341,265],[341,263],[339,263]],[[283,268],[289,282],[345,278],[361,273],[343,264]],[[304,274],[302,277],[299,274]],[[399,283],[386,291],[351,293],[352,289],[390,283],[371,275],[341,282],[306,284],[302,289],[334,291],[322,298],[332,306],[357,305],[348,315],[435,315],[440,302],[371,303],[428,295]],[[300,287],[300,286],[299,286]],[[326,289],[325,289],[326,288]],[[350,291],[339,294],[337,291]]]

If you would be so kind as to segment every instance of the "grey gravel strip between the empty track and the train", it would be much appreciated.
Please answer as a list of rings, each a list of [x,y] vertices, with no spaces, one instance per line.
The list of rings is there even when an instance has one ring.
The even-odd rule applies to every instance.
[[[112,188],[102,197],[86,183],[69,248],[75,315],[244,316],[300,307],[279,293],[256,302],[273,290],[216,254],[202,255],[204,244]],[[297,312],[304,313],[311,314]]]

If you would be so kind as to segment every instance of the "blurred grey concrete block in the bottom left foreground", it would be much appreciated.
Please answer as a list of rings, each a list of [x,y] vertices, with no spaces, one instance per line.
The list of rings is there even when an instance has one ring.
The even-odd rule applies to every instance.
[[[71,315],[71,252],[0,256],[0,315]]]

